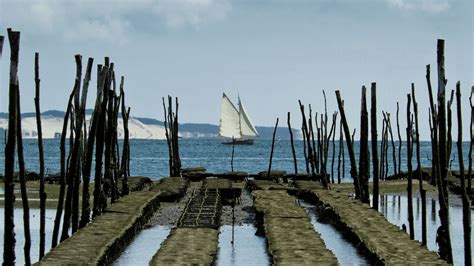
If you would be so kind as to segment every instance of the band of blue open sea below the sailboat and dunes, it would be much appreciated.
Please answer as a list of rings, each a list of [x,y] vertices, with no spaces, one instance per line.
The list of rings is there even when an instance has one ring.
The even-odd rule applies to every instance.
[[[234,171],[244,171],[248,173],[258,173],[268,170],[268,163],[271,151],[270,140],[256,140],[254,145],[235,146],[234,151]],[[337,156],[339,153],[336,141],[334,164],[335,176],[337,176]],[[122,142],[119,143],[122,145]],[[165,140],[131,140],[131,160],[130,168],[132,175],[148,176],[153,179],[160,179],[167,176],[168,168],[168,148]],[[3,138],[0,140],[0,147],[3,147]],[[398,143],[396,143],[398,152]],[[298,161],[298,171],[306,171],[303,141],[295,141],[296,156]],[[59,140],[48,139],[44,141],[45,169],[46,173],[59,172],[60,151]],[[358,158],[359,144],[354,143],[356,158]],[[421,162],[424,166],[431,165],[431,143],[421,143]],[[469,143],[463,143],[464,160],[467,167]],[[406,144],[402,144],[402,170],[407,167]],[[345,148],[345,174],[349,176],[350,161]],[[380,149],[379,149],[380,152]],[[25,164],[27,170],[38,171],[38,148],[35,139],[24,140]],[[222,145],[218,139],[181,139],[180,155],[183,167],[203,166],[209,172],[221,173],[231,171],[231,154],[232,146]],[[328,173],[331,173],[332,162],[332,143],[329,145],[329,162]],[[388,150],[389,155],[389,174],[393,173],[391,145]],[[457,146],[453,143],[452,150],[452,169],[458,168]],[[18,165],[18,163],[16,162]],[[4,172],[5,158],[0,156],[0,172]],[[416,166],[415,158],[413,158],[413,166]],[[293,155],[291,152],[291,144],[288,140],[280,140],[275,142],[275,149],[272,162],[273,170],[286,170],[289,173],[294,172]],[[345,179],[349,182],[349,178]]]

